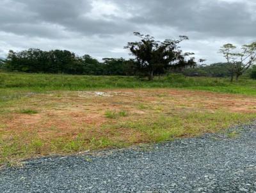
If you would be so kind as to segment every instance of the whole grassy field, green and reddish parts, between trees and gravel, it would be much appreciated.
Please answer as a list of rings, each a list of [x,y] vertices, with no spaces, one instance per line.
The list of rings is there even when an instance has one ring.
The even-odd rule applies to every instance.
[[[256,118],[256,81],[0,73],[0,164],[168,141]]]

